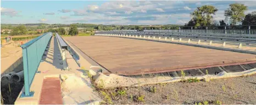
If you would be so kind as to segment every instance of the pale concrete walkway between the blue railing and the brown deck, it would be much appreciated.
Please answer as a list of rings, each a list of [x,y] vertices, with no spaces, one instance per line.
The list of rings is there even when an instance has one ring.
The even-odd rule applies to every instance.
[[[42,94],[42,88],[44,88],[43,80],[47,77],[55,77],[62,80],[63,75],[74,75],[76,77],[79,77],[80,79],[83,79],[81,76],[83,75],[83,72],[79,71],[81,68],[76,64],[75,60],[72,58],[72,56],[69,54],[68,51],[66,51],[67,56],[67,62],[69,66],[69,70],[62,70],[62,65],[60,65],[60,54],[58,53],[58,43],[57,39],[55,37],[52,37],[51,43],[49,45],[49,49],[46,52],[46,56],[43,56],[43,62],[40,63],[40,66],[38,67],[38,71],[41,71],[41,73],[36,73],[34,80],[31,84],[30,91],[35,91],[35,94],[33,97],[24,97],[20,98],[21,93],[24,92],[24,88],[21,90],[19,97],[16,99],[15,104],[39,104],[40,102],[40,96]],[[60,81],[62,82],[62,81]],[[57,84],[58,85],[58,84]],[[91,89],[87,86],[87,88]],[[90,96],[93,91],[87,91],[86,96]],[[51,97],[51,93],[49,93],[47,96]],[[74,99],[75,100],[75,99]],[[84,101],[91,100],[90,98],[84,98]],[[44,103],[51,103],[51,102],[44,102]]]

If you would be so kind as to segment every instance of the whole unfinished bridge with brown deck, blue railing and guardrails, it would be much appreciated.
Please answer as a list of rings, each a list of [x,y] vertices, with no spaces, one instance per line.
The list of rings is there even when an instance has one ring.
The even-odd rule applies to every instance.
[[[101,99],[92,88],[85,85],[91,84],[88,73],[95,82],[103,79],[109,88],[136,86],[136,78],[140,78],[142,84],[152,84],[153,81],[147,83],[151,80],[143,81],[152,75],[169,78],[167,81],[159,79],[158,83],[179,81],[181,70],[186,72],[187,78],[199,79],[255,74],[255,30],[218,32],[223,33],[215,30],[123,30],[98,31],[89,37],[44,33],[21,46],[25,83],[15,104],[99,102]],[[82,78],[80,84],[63,86],[66,77],[75,76]],[[131,81],[122,81],[127,78]],[[111,80],[120,82],[110,84]],[[70,88],[71,85],[76,87]],[[65,86],[79,94],[62,96],[66,93]],[[74,98],[82,99],[74,101]]]

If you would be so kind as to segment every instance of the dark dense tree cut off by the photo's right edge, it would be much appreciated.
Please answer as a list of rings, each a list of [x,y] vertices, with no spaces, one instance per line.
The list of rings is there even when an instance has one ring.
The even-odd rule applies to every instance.
[[[246,15],[242,21],[242,25],[256,25],[256,11]],[[255,29],[255,26],[251,26],[252,29]]]

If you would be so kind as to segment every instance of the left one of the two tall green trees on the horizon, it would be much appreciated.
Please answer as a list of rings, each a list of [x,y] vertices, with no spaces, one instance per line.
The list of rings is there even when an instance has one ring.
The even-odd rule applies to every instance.
[[[212,23],[213,15],[215,15],[216,11],[218,11],[218,9],[213,5],[197,7],[197,9],[191,13],[194,20],[196,20],[195,26],[209,26]]]

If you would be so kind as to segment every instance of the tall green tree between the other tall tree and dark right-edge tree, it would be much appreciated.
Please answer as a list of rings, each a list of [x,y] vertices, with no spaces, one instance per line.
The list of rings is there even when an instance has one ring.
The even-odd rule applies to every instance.
[[[244,11],[246,11],[248,7],[244,4],[234,3],[230,4],[229,8],[225,10],[224,15],[227,20],[230,20],[232,25],[236,25],[237,22],[241,22],[244,18]]]

